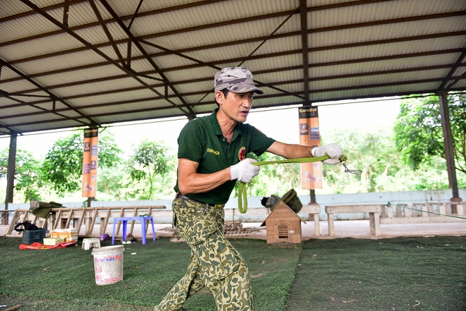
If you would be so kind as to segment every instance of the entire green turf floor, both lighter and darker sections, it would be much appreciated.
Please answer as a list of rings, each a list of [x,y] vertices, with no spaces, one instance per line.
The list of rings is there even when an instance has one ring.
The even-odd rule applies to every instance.
[[[231,242],[249,266],[256,311],[466,310],[466,237]],[[153,310],[190,254],[167,238],[125,245],[123,281],[97,286],[90,250],[19,250],[20,243],[0,238],[0,305],[20,311]],[[184,310],[216,307],[203,291]]]

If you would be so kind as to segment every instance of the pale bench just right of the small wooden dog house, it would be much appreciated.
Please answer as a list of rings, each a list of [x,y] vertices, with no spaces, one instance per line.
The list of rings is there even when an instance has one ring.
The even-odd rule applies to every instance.
[[[383,205],[332,205],[325,206],[325,213],[328,215],[328,235],[335,236],[335,224],[333,214],[345,213],[369,213],[369,225],[371,234],[381,235],[380,213]]]

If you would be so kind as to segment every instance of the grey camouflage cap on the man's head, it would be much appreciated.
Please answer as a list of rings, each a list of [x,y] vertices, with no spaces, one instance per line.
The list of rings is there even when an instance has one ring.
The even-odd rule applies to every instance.
[[[215,73],[215,92],[229,90],[235,93],[256,92],[263,94],[263,90],[254,85],[252,73],[246,67],[227,67]]]

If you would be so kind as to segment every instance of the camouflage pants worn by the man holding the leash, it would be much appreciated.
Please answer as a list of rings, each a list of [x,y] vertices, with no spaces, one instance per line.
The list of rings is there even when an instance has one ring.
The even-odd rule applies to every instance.
[[[191,261],[183,278],[154,310],[181,310],[189,296],[207,288],[214,296],[217,310],[252,311],[249,270],[223,235],[223,209],[181,198],[173,201],[172,209],[174,226],[191,246]]]

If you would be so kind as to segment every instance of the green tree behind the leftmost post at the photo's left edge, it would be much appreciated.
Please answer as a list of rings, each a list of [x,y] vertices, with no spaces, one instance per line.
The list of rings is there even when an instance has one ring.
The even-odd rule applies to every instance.
[[[8,171],[8,149],[0,153],[0,178]],[[40,162],[27,150],[16,150],[15,182],[13,189],[23,197],[23,202],[40,200]]]

